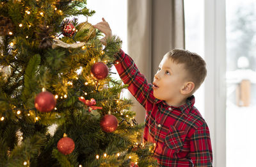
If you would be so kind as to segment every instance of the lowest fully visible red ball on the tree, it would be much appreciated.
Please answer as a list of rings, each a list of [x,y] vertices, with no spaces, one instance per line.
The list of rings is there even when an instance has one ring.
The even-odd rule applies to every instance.
[[[57,148],[62,154],[68,155],[73,152],[75,143],[72,138],[63,137],[58,141]]]

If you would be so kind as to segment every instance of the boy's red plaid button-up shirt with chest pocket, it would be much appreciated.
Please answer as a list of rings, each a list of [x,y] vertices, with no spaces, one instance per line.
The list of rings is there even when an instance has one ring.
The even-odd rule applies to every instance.
[[[154,156],[160,166],[212,166],[212,147],[207,124],[194,107],[192,95],[186,104],[173,107],[153,95],[152,84],[122,50],[115,67],[129,91],[146,109],[143,139],[156,143]]]

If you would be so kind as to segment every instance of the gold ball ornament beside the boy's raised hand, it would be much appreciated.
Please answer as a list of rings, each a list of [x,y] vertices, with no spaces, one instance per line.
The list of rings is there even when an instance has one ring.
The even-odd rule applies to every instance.
[[[88,29],[88,33],[84,36],[84,41],[90,40],[96,36],[96,29],[90,24],[90,22],[81,22],[76,26],[77,31],[84,31]]]

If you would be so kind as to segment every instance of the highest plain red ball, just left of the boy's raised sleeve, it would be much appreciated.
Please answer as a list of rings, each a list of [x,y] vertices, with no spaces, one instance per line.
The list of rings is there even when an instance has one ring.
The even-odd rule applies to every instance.
[[[105,79],[108,76],[108,66],[102,62],[95,63],[91,68],[91,75],[94,79]]]

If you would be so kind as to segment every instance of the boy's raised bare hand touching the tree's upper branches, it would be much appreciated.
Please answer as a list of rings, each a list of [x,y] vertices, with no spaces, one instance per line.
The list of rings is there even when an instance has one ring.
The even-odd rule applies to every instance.
[[[112,31],[109,27],[108,22],[104,18],[102,18],[102,22],[98,22],[96,25],[93,25],[94,28],[99,29],[102,33],[105,34],[104,38],[100,39],[100,42],[102,42],[103,45],[107,45],[107,38],[111,38]]]

